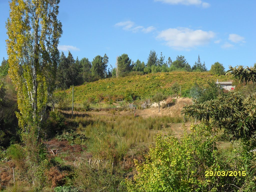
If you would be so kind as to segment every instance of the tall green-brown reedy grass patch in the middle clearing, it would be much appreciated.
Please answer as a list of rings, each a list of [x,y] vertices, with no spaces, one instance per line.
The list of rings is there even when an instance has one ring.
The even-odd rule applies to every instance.
[[[180,118],[168,116],[143,119],[133,116],[91,116],[74,119],[77,131],[90,139],[88,150],[95,158],[119,161],[128,148],[139,143],[151,143],[155,134],[169,123],[181,123]]]

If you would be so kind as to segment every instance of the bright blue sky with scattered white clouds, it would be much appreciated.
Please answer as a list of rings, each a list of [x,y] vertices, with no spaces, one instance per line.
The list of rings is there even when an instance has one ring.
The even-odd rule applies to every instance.
[[[191,66],[200,55],[208,69],[216,61],[226,70],[251,66],[256,62],[255,7],[254,0],[61,0],[58,48],[91,61],[106,53],[113,67],[123,53],[134,62],[147,62],[153,49],[165,60],[184,55]],[[0,12],[0,57],[7,58],[7,0],[0,0]]]

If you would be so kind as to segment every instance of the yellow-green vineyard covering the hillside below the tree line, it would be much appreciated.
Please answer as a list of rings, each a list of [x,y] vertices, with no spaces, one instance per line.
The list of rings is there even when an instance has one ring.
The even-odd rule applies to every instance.
[[[166,95],[173,94],[170,87],[174,82],[181,85],[182,92],[191,88],[195,82],[199,85],[206,85],[207,80],[227,81],[231,76],[216,76],[210,72],[185,72],[175,71],[169,73],[145,74],[142,76],[131,76],[87,83],[74,87],[74,102],[82,103],[88,98],[98,100],[98,95],[124,95],[131,91],[135,96],[142,99],[152,97],[156,92],[163,92]],[[72,98],[72,88],[66,90],[68,97]]]

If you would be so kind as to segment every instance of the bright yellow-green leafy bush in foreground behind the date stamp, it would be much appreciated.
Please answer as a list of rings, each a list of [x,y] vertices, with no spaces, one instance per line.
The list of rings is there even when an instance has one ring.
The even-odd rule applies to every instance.
[[[123,183],[129,192],[213,192],[239,191],[239,188],[242,191],[255,189],[255,183],[251,182],[253,178],[248,175],[244,160],[251,154],[244,153],[240,149],[239,159],[232,153],[228,156],[217,149],[215,132],[209,126],[192,125],[190,129],[192,133],[188,134],[185,131],[180,139],[169,135],[156,136],[155,147],[150,149],[146,161],[143,164],[135,161],[138,173],[133,180],[127,178]],[[243,170],[247,175],[205,176],[205,171],[229,170]]]

